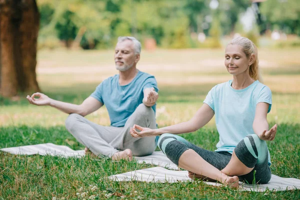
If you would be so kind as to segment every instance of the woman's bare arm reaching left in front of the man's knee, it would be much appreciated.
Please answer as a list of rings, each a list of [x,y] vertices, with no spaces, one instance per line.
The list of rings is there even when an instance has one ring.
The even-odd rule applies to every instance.
[[[206,103],[203,103],[195,115],[188,121],[158,129],[145,128],[134,124],[130,129],[130,133],[133,137],[144,137],[160,135],[163,133],[180,134],[185,132],[193,132],[208,123],[213,115],[213,110]],[[135,129],[140,130],[140,132],[136,131]]]

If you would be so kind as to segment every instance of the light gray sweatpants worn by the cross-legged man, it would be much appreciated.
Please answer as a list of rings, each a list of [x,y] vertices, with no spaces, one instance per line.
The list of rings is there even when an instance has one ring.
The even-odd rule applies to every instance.
[[[139,104],[123,127],[98,125],[76,113],[70,114],[65,120],[66,129],[95,155],[111,157],[126,148],[136,156],[151,154],[156,148],[155,136],[132,137],[129,130],[134,124],[155,129],[153,109]]]

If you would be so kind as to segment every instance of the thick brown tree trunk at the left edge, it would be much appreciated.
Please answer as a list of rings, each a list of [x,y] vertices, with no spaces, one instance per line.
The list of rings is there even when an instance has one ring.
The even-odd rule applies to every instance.
[[[0,1],[0,94],[39,91],[36,43],[39,12],[35,0]]]

